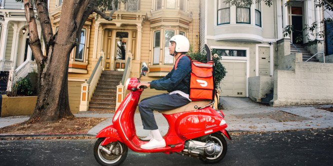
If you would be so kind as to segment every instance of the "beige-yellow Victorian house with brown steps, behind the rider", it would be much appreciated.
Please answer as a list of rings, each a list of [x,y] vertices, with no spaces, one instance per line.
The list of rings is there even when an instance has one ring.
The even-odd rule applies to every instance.
[[[49,2],[54,32],[61,19],[61,6],[62,0]],[[174,64],[167,49],[171,36],[186,36],[198,50],[199,0],[128,0],[117,6],[112,18],[95,19],[95,13],[91,14],[72,50],[68,93],[73,113],[114,110],[115,101],[118,104],[126,94],[124,79],[138,77],[142,62],[149,67],[142,81],[165,76]],[[141,99],[159,93],[163,91],[147,89]]]

